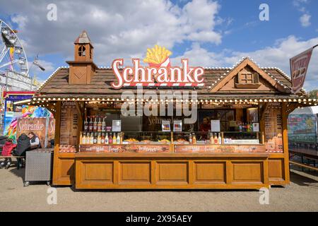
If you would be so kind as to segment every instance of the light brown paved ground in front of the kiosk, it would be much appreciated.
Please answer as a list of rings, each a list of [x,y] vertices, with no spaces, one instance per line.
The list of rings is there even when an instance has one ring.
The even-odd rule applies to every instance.
[[[47,204],[44,183],[23,187],[24,169],[0,169],[0,211],[318,211],[318,174],[292,170],[289,186],[259,191],[76,191],[57,188]]]

